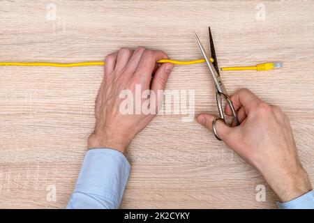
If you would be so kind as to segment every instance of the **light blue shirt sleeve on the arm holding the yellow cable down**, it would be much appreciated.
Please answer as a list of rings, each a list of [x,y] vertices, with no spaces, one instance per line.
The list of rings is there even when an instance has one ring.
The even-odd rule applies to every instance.
[[[130,163],[119,151],[87,151],[67,208],[119,208]]]

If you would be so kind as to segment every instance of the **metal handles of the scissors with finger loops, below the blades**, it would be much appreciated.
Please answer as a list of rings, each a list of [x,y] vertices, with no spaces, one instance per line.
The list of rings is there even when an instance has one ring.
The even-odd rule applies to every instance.
[[[218,120],[221,120],[225,123],[225,115],[223,114],[223,98],[221,95],[223,95],[225,97],[225,100],[227,100],[227,103],[231,109],[231,112],[232,112],[232,116],[233,116],[233,119],[234,119],[234,122],[237,124],[237,125],[240,125],[239,123],[239,120],[238,120],[238,117],[237,117],[237,114],[234,110],[234,106],[233,106],[233,103],[232,103],[232,100],[230,99],[230,97],[228,95],[225,95],[223,93],[220,93],[217,88],[215,88],[216,90],[216,102],[217,102],[217,107],[218,107],[218,112],[219,112],[219,118],[215,118],[212,125],[213,125],[213,132],[214,132],[214,135],[215,137],[218,139],[218,140],[221,140],[220,137],[218,136],[218,133],[217,133],[217,129],[216,129],[216,121]]]

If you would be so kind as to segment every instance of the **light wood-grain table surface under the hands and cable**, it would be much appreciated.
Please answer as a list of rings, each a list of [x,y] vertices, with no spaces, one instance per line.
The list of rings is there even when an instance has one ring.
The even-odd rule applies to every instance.
[[[284,62],[221,75],[230,94],[248,88],[282,107],[314,183],[313,11],[313,1],[0,1],[0,61],[99,61],[138,45],[199,59],[193,29],[206,43],[211,26],[220,66]],[[102,76],[101,66],[0,67],[0,208],[66,206]],[[194,90],[195,114],[218,114],[204,64],[176,66],[167,89]],[[121,208],[276,208],[260,174],[184,116],[159,115],[132,141]]]

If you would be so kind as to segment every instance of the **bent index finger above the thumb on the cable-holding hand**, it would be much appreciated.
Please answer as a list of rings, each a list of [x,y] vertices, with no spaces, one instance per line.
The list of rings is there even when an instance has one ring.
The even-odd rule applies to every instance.
[[[149,84],[156,62],[160,59],[167,59],[167,54],[160,50],[146,49],[135,70],[135,78],[138,78],[140,83]]]

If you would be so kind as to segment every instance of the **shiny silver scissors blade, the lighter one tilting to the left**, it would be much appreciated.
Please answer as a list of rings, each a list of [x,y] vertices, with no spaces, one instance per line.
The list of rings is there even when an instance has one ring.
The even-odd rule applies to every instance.
[[[200,43],[200,39],[198,38],[198,36],[195,33],[195,31],[194,31],[194,36],[195,36],[195,39],[196,39],[198,47],[200,47],[200,51],[202,53],[202,56],[205,59],[205,62],[206,62],[207,67],[209,69],[209,72],[211,73],[211,77],[213,77],[213,79],[214,79],[214,84],[216,86],[217,91],[227,95],[227,91],[225,90],[225,86],[223,85],[223,82],[220,79],[220,75],[218,75],[218,72],[214,68],[213,63],[211,63],[211,61],[209,61],[209,59],[208,59],[208,57],[206,55],[205,49],[204,49],[202,43]]]

